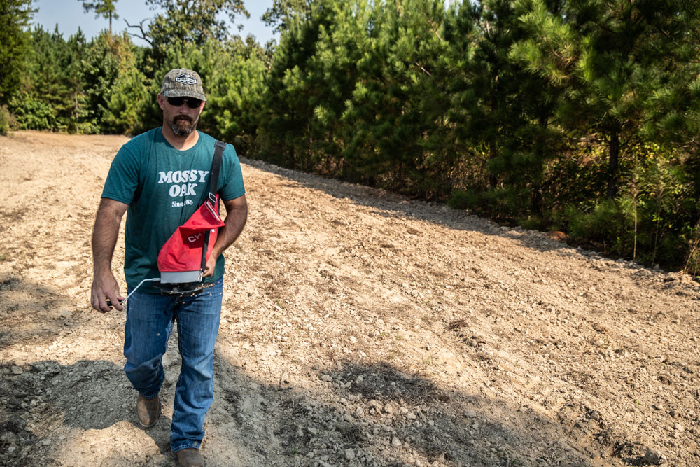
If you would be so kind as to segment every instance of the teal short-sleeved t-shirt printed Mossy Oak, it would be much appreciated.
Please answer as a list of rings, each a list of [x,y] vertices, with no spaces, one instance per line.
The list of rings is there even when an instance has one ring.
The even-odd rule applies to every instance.
[[[124,274],[135,287],[143,279],[160,277],[158,252],[180,225],[207,199],[209,172],[216,139],[199,132],[192,148],[179,151],[156,128],[131,139],[112,161],[102,197],[129,205],[125,232]],[[246,193],[235,148],[223,152],[218,194],[228,201]],[[224,258],[216,261],[215,281],[223,276]],[[158,288],[139,290],[160,293]]]

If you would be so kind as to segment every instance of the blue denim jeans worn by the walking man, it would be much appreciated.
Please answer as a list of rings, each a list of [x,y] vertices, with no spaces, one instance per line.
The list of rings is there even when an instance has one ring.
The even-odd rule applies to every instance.
[[[144,398],[158,396],[165,379],[162,358],[173,323],[177,323],[182,358],[175,388],[170,447],[178,452],[200,448],[204,417],[214,400],[214,343],[218,334],[223,279],[193,297],[137,291],[127,302],[124,371]]]

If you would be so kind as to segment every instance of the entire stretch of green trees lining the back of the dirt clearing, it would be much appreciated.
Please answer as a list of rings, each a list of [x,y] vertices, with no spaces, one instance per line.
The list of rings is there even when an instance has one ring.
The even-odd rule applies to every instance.
[[[4,1],[0,53],[24,50],[24,78],[0,104],[19,127],[136,134],[162,123],[165,73],[195,69],[200,129],[241,154],[700,267],[693,2],[275,0],[262,48],[221,21],[241,0],[148,0],[162,13],[139,48],[27,32],[29,2]]]

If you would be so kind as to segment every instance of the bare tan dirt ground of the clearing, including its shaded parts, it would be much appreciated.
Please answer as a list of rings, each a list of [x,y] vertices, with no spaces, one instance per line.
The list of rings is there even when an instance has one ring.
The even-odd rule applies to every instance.
[[[0,465],[174,465],[176,335],[144,430],[125,316],[89,304],[125,141],[0,138]],[[244,177],[208,466],[700,465],[689,277],[262,162]]]

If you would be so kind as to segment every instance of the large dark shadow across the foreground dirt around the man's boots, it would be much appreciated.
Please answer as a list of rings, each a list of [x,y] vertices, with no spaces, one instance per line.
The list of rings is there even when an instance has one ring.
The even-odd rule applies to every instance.
[[[309,370],[311,384],[295,386],[263,384],[221,356],[215,361],[216,394],[203,446],[210,467],[325,465],[318,461],[592,466],[605,449],[577,442],[559,421],[531,409],[444,389],[428,375],[405,375],[387,362],[345,361],[331,370]],[[135,392],[122,368],[110,361],[1,366],[0,427],[10,434],[0,441],[0,463],[40,465],[43,459],[68,465],[71,443],[91,449],[97,441],[133,444],[136,452],[120,456],[120,449],[94,449],[90,462],[80,465],[169,465],[167,414],[178,366],[167,366],[161,391],[166,415],[148,430],[138,424]],[[617,454],[638,463],[644,453],[631,448]]]

